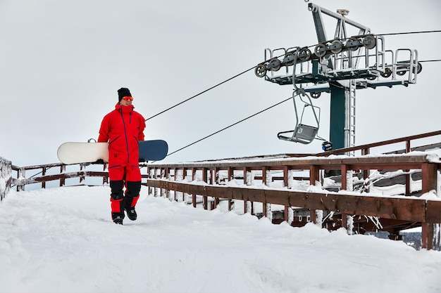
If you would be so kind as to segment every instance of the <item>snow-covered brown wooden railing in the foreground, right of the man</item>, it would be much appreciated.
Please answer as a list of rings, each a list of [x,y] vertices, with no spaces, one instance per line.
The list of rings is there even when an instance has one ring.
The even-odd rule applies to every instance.
[[[185,201],[194,207],[201,203],[204,209],[215,209],[223,204],[225,209],[237,210],[237,204],[243,204],[243,213],[267,216],[273,223],[287,221],[291,226],[304,226],[309,220],[330,230],[344,227],[350,233],[353,230],[359,233],[387,230],[392,237],[398,237],[400,230],[421,226],[423,247],[437,249],[441,223],[437,178],[440,169],[439,157],[423,152],[361,157],[230,159],[151,164],[147,185],[151,195]],[[336,185],[323,177],[325,171],[330,170],[342,174],[341,183],[337,184],[338,192],[326,190]],[[421,181],[404,181],[410,186],[400,188],[400,193],[393,190],[391,194],[369,193],[369,177],[364,174],[378,170],[420,170]],[[294,176],[297,172],[309,179],[305,181],[302,176]],[[356,184],[363,188],[354,190]],[[420,192],[415,193],[416,189]],[[273,219],[274,209],[282,214],[281,219]]]

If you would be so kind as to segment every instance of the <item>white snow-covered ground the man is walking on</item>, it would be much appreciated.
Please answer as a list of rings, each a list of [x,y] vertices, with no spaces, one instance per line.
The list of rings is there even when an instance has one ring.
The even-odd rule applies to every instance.
[[[441,252],[147,196],[110,219],[107,186],[0,202],[0,292],[441,292]]]

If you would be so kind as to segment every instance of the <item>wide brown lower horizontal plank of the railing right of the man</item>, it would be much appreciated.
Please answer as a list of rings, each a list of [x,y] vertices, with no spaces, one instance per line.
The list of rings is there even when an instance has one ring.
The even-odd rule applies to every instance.
[[[379,216],[385,219],[425,222],[426,200],[399,197],[373,197],[366,195],[343,195],[341,193],[305,193],[294,190],[272,190],[256,188],[240,188],[213,185],[194,185],[166,181],[148,181],[147,185],[160,187],[167,185],[172,190],[185,193],[209,195],[251,202],[282,204],[287,207],[303,207],[306,209],[322,209],[340,211],[344,214],[363,214]],[[436,204],[430,209],[436,218]],[[436,223],[436,221],[435,221]]]

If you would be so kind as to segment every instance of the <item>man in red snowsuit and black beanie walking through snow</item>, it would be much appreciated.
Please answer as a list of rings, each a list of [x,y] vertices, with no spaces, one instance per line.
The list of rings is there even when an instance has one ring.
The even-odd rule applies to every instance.
[[[145,119],[133,110],[132,100],[129,89],[118,89],[118,103],[104,116],[98,137],[98,142],[108,142],[111,216],[121,225],[124,210],[130,220],[137,219],[135,205],[141,190],[138,141],[144,141]]]

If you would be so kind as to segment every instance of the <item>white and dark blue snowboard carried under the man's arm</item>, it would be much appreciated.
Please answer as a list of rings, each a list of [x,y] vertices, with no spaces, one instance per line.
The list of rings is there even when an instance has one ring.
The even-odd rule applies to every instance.
[[[159,161],[167,156],[168,144],[161,139],[139,141],[139,162]],[[108,162],[108,143],[63,143],[57,156],[63,164],[92,163],[102,159]]]

